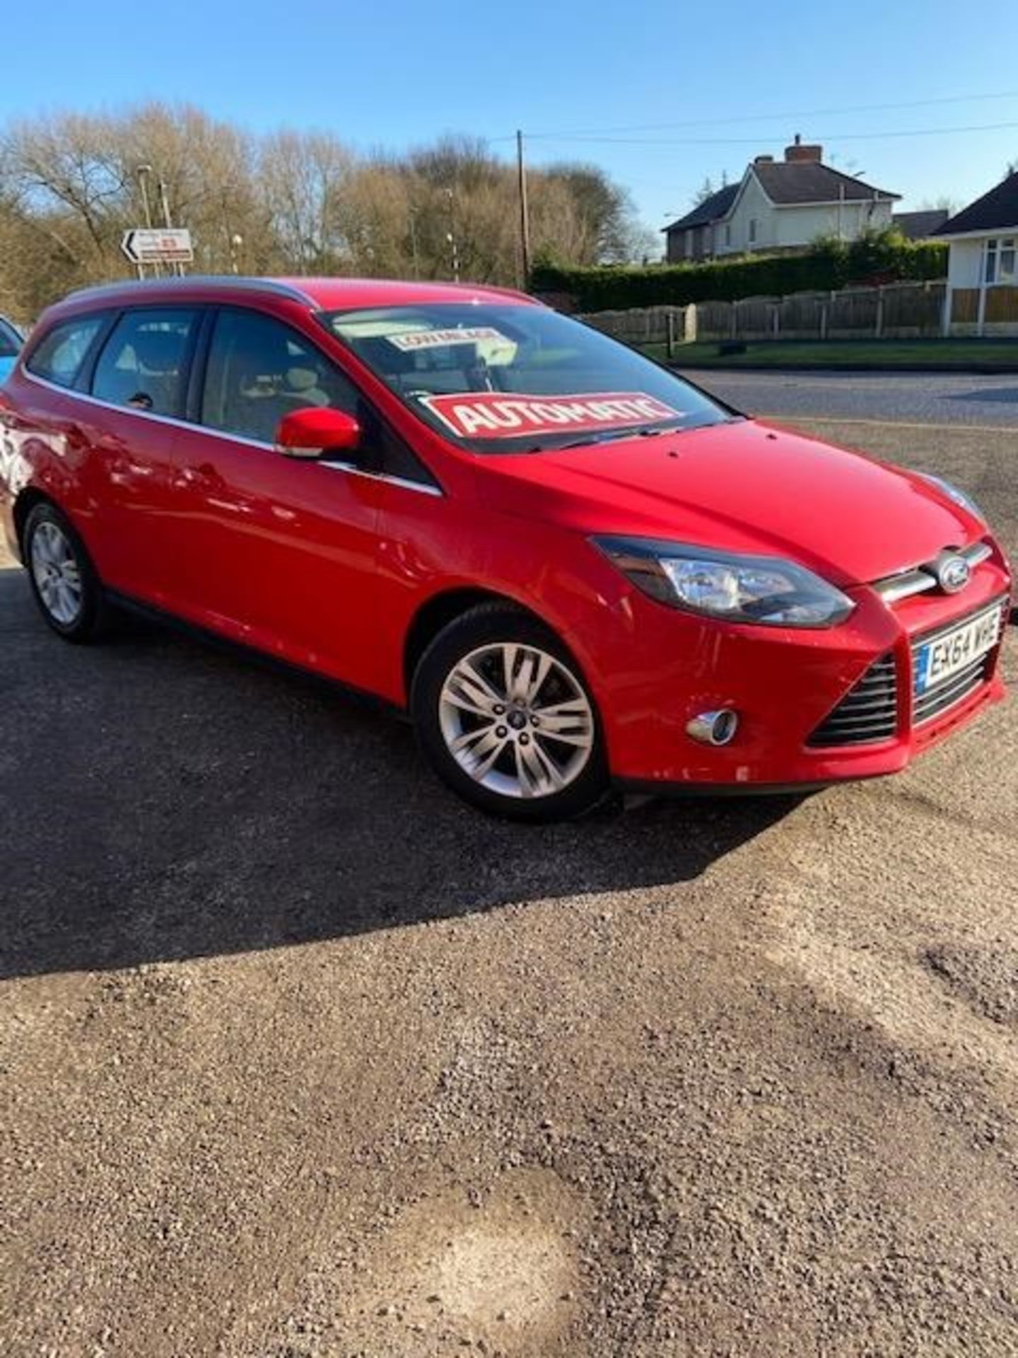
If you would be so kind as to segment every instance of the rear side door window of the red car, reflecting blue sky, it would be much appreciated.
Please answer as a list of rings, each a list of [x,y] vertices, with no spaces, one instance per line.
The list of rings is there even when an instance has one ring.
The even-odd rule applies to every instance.
[[[126,311],[103,345],[92,395],[114,406],[181,417],[197,308]]]

